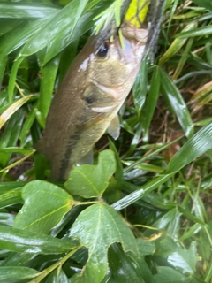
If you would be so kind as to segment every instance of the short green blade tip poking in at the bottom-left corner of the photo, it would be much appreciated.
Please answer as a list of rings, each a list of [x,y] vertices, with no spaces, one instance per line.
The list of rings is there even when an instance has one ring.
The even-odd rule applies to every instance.
[[[23,266],[0,266],[0,282],[17,282],[21,279],[32,279],[37,277],[40,272],[35,271],[32,268]]]

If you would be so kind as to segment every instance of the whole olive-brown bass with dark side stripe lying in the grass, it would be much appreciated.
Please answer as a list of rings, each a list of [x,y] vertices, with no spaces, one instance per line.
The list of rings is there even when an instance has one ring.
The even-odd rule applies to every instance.
[[[126,18],[118,27],[122,38],[117,32],[100,44],[98,35],[90,36],[53,98],[36,146],[49,158],[52,180],[67,180],[73,165],[91,164],[95,142],[106,130],[114,139],[119,136],[117,114],[148,41],[148,22],[137,27]]]

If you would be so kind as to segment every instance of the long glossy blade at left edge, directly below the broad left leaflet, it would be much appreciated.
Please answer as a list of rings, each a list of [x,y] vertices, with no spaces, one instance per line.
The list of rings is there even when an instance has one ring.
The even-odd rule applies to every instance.
[[[0,249],[29,254],[61,254],[77,246],[76,241],[64,241],[49,235],[0,226]]]

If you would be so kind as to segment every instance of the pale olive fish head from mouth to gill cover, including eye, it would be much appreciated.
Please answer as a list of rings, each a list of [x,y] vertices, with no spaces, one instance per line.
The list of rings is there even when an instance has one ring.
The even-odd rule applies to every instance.
[[[130,92],[148,39],[148,28],[123,24],[120,29],[121,38],[117,32],[112,40],[105,40],[98,47],[95,38],[88,42],[90,53],[79,69],[86,71],[89,92],[84,92],[84,96],[87,100],[92,96],[90,101],[96,103],[101,100],[101,104],[106,107],[112,103],[115,108],[119,108]],[[105,108],[104,111],[107,109],[113,110],[113,107]]]

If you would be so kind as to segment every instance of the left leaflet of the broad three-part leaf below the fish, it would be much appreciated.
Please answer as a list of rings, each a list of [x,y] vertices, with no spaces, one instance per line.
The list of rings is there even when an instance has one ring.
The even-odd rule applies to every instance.
[[[72,196],[62,188],[42,180],[29,182],[22,189],[25,200],[15,219],[15,228],[48,233],[72,208]]]

